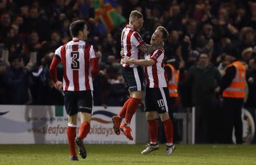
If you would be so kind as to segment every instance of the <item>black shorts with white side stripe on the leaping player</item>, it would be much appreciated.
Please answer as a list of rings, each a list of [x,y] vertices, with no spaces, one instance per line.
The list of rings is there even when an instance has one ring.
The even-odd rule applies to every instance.
[[[125,88],[128,88],[132,92],[143,91],[144,73],[141,66],[122,67],[122,74],[125,79]]]

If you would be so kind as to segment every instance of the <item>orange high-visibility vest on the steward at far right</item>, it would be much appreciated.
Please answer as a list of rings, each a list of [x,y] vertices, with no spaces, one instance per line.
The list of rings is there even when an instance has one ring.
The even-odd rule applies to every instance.
[[[223,91],[222,97],[224,98],[245,98],[245,66],[240,61],[235,61],[228,67],[236,67],[236,75],[229,86]]]

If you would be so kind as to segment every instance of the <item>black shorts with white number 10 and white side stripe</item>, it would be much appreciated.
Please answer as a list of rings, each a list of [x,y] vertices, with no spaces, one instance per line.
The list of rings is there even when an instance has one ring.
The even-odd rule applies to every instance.
[[[167,87],[162,88],[146,88],[145,111],[157,111],[164,113],[169,111],[169,91]]]

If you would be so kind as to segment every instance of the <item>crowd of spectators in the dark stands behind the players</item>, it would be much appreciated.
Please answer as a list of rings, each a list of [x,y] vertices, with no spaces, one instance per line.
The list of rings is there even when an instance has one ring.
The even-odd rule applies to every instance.
[[[256,1],[236,0],[117,0],[117,12],[126,20],[141,11],[140,32],[146,43],[156,27],[170,35],[164,50],[167,60],[179,61],[180,84],[195,65],[200,52],[221,74],[223,48],[231,43],[247,67],[247,105],[256,104]],[[63,104],[63,92],[54,88],[49,65],[55,49],[71,40],[69,24],[77,19],[90,23],[89,42],[100,54],[100,74],[94,79],[94,104],[121,106],[129,97],[120,71],[121,31],[101,34],[94,24],[93,0],[0,1],[0,104]],[[61,75],[60,64],[58,73]],[[62,78],[59,77],[61,80]],[[181,107],[189,105],[189,90],[181,85]],[[184,96],[184,97],[182,97]]]

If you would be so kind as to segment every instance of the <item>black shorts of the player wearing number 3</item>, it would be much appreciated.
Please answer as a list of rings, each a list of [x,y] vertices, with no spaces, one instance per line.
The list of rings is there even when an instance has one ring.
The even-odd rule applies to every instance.
[[[68,115],[78,112],[92,113],[92,91],[64,91],[64,104]]]

